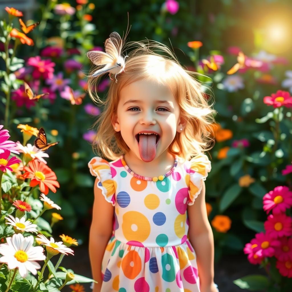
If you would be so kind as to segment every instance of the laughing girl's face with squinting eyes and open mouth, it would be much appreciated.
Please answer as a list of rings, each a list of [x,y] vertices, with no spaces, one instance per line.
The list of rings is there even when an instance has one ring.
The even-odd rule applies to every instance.
[[[167,152],[176,132],[182,132],[180,128],[184,128],[185,123],[181,122],[179,105],[167,87],[151,81],[140,80],[121,90],[117,115],[114,117],[112,125],[114,129],[117,127],[115,131],[121,131],[122,138],[130,151],[136,157],[149,162]],[[141,140],[139,146],[136,137],[139,132],[143,131],[154,131],[159,134],[160,138],[156,147],[153,146],[155,140],[152,138],[151,144],[151,139],[147,140],[148,137],[146,138],[144,135],[142,136],[144,144]],[[153,137],[153,135],[151,136]],[[149,154],[145,150],[148,154],[145,152],[141,154],[144,151],[141,150],[141,147],[150,148],[150,145],[152,150],[147,151],[151,153]]]

